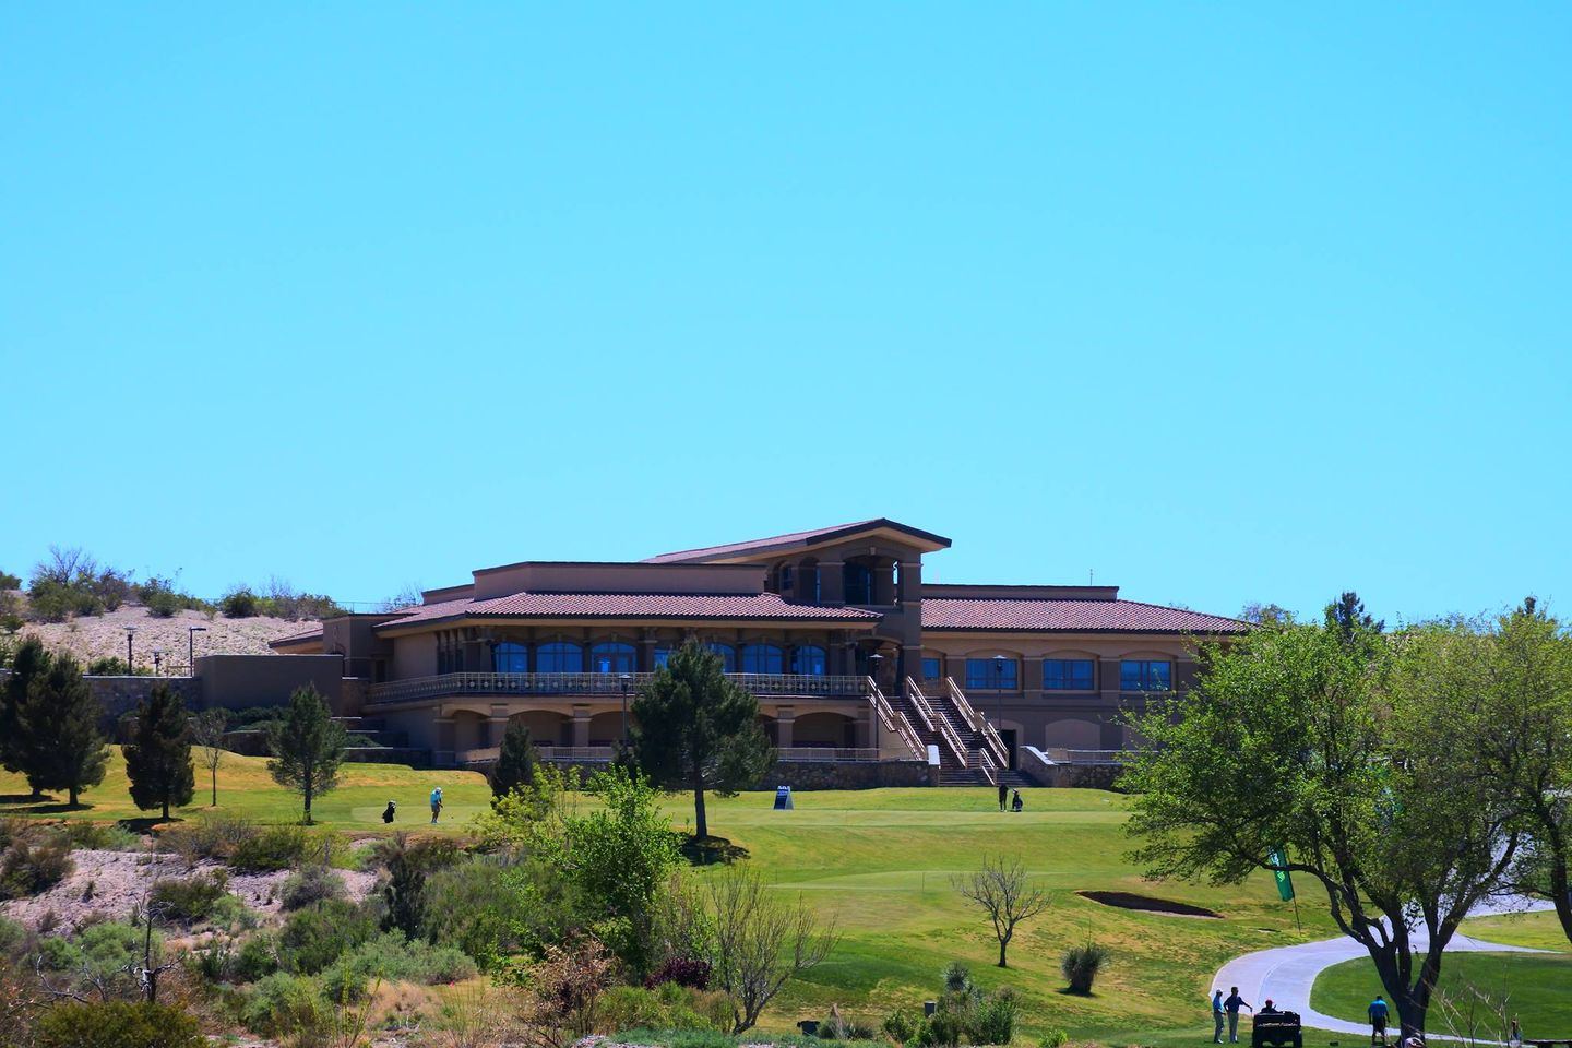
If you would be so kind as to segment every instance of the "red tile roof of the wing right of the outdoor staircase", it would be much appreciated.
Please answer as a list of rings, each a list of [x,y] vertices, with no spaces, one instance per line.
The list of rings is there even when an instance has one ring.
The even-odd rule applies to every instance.
[[[1137,600],[968,600],[924,597],[924,630],[1063,630],[1071,633],[1242,633],[1239,619]]]

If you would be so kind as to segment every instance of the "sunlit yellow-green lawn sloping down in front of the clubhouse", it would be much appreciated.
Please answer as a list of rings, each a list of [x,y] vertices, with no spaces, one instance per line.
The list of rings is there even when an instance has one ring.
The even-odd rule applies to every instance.
[[[230,757],[220,770],[219,811],[256,820],[299,819],[299,798],[277,787],[258,757]],[[380,831],[380,811],[399,801],[399,825],[423,825],[424,801],[440,782],[448,800],[443,822],[459,828],[479,811],[489,790],[465,771],[415,771],[398,765],[346,765],[343,786],[316,803],[319,822],[351,831]],[[91,808],[17,803],[17,776],[0,775],[0,815],[36,812],[52,817],[145,817],[126,795],[118,751],[102,786],[83,793]],[[1050,1029],[1077,1040],[1115,1045],[1204,1043],[1210,1039],[1207,991],[1212,973],[1253,949],[1325,938],[1335,929],[1313,905],[1302,905],[1303,933],[1294,911],[1276,897],[1272,880],[1254,877],[1237,888],[1149,885],[1124,852],[1121,833],[1127,800],[1100,790],[1023,790],[1027,811],[1005,814],[990,789],[883,789],[805,792],[795,811],[772,811],[773,792],[711,798],[711,833],[747,852],[781,892],[799,896],[816,911],[835,914],[843,941],[822,966],[791,982],[766,1013],[764,1028],[792,1029],[838,1004],[844,1013],[877,1026],[896,1006],[920,1009],[937,996],[940,971],[951,960],[971,966],[984,987],[1011,985],[1023,998],[1023,1039]],[[204,809],[198,773],[198,806]],[[673,825],[692,823],[687,797],[668,801]],[[1053,905],[1017,929],[1009,969],[994,966],[998,947],[984,914],[960,899],[951,877],[976,869],[984,853],[1019,855],[1049,889]],[[701,870],[701,877],[712,870]],[[1221,919],[1159,916],[1118,910],[1078,897],[1077,891],[1129,891],[1207,907]],[[1113,952],[1096,995],[1061,991],[1060,957],[1066,947],[1096,940]],[[1311,1037],[1311,1043],[1325,1043]]]

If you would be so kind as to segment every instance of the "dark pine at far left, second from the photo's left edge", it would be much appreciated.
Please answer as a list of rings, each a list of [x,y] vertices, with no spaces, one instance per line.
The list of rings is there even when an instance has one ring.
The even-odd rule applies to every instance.
[[[108,746],[99,732],[104,705],[71,655],[53,655],[28,683],[19,712],[22,770],[33,789],[66,790],[75,808],[82,790],[104,781]]]

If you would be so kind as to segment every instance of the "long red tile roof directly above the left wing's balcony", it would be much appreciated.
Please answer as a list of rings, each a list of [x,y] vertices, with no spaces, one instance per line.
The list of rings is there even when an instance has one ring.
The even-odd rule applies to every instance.
[[[778,594],[590,594],[519,592],[490,600],[442,600],[413,608],[382,624],[399,628],[468,616],[520,619],[772,619],[872,622],[879,616],[860,608],[821,608],[786,603]]]

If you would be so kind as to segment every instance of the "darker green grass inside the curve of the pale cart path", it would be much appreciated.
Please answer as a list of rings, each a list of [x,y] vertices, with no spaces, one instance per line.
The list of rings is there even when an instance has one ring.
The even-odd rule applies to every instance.
[[[1361,1023],[1380,991],[1374,965],[1360,958],[1320,973],[1309,1001],[1317,1012]],[[1475,1032],[1484,1039],[1495,1040],[1504,1032],[1497,1029],[1497,1007],[1508,1018],[1519,1018],[1525,1037],[1572,1037],[1572,955],[1448,954],[1437,999],[1456,1002],[1464,1015],[1475,1007],[1479,1023]],[[1479,999],[1490,1004],[1470,1004]],[[1431,1032],[1468,1032],[1468,1020],[1442,1004],[1431,1006],[1427,1026]]]

